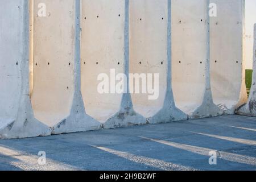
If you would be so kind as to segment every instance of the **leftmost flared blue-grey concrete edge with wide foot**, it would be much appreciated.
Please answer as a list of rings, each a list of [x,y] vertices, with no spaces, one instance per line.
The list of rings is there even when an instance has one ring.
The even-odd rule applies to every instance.
[[[34,117],[29,88],[29,8],[23,1],[23,52],[20,68],[21,95],[15,121],[0,129],[0,139],[28,138],[51,135],[51,129]]]

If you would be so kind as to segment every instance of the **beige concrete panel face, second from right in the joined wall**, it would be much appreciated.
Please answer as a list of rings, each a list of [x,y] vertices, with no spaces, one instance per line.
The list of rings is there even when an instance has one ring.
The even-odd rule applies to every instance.
[[[191,115],[203,103],[207,70],[207,1],[172,0],[172,89]]]

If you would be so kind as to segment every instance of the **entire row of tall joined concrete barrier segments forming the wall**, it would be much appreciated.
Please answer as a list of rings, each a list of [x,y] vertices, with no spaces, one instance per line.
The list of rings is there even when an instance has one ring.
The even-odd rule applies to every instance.
[[[213,42],[208,23],[209,0],[173,0],[172,6],[170,0],[114,0],[114,7],[104,0],[44,0],[40,3],[46,3],[46,17],[38,15],[39,1],[30,2],[34,2],[34,9],[29,26],[28,3],[3,1],[1,13],[5,15],[9,11],[14,16],[10,21],[1,19],[2,138],[49,135],[49,127],[52,134],[61,134],[178,121],[187,119],[187,114],[189,118],[213,117],[222,114],[215,105],[218,101],[229,103],[222,104],[222,108],[227,107],[225,113],[232,114],[245,100],[243,74],[240,74],[242,1],[234,3],[236,8],[228,9],[230,16],[236,14],[233,10],[239,10],[234,17],[234,21],[239,21],[234,24],[233,19],[221,19],[220,26],[213,28],[211,38],[216,39]],[[230,1],[225,3],[229,5]],[[186,13],[180,14],[181,11]],[[219,13],[223,12],[220,9]],[[222,22],[233,24],[224,26]],[[216,32],[227,27],[234,27],[235,31],[232,36],[225,32],[229,36],[228,40],[225,37],[223,53],[218,43],[224,38]],[[234,39],[238,43],[234,54],[230,49],[233,36],[239,38]],[[218,58],[210,57],[211,45]],[[233,65],[237,57],[241,63],[237,61],[226,71],[226,65]],[[210,59],[225,60],[221,65],[224,70],[218,73],[221,69],[216,65],[210,69],[213,64]],[[119,94],[116,90],[112,93],[115,87],[112,84],[110,93],[98,93],[97,76],[100,73],[110,76],[110,69],[127,77],[129,73],[159,73],[159,98],[148,100],[149,94]],[[221,75],[223,72],[230,74],[220,81],[219,76],[225,77]],[[111,77],[110,81],[113,81]],[[233,81],[234,84],[224,84]],[[126,87],[129,88],[129,80]],[[216,91],[216,88],[220,89]],[[34,119],[30,96],[35,117],[44,124]],[[251,101],[248,108],[253,105]]]

